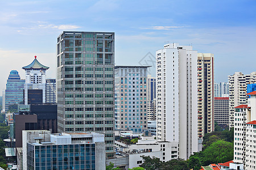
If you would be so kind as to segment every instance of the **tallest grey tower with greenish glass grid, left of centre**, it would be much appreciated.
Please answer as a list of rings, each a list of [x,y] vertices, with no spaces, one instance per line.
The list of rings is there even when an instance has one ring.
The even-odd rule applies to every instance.
[[[64,31],[57,38],[58,131],[96,131],[114,155],[114,33]]]

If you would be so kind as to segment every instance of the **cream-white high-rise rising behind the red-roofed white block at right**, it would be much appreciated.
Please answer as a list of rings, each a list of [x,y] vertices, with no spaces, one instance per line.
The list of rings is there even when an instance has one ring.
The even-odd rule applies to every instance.
[[[247,75],[236,72],[229,75],[229,128],[234,127],[234,107],[247,103],[247,84],[252,83],[256,83],[256,72]]]

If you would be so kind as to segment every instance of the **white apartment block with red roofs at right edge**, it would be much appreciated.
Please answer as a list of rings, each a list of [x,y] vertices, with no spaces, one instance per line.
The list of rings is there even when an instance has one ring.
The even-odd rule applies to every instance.
[[[255,165],[255,153],[251,152],[251,147],[255,146],[256,91],[246,95],[251,96],[247,104],[235,107],[234,112],[234,162],[243,163],[246,169],[255,169],[250,165]]]

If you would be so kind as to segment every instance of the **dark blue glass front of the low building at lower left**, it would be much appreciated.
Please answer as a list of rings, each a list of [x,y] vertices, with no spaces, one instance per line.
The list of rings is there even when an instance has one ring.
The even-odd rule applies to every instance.
[[[38,145],[27,143],[28,170],[86,169],[95,167],[95,144]]]

